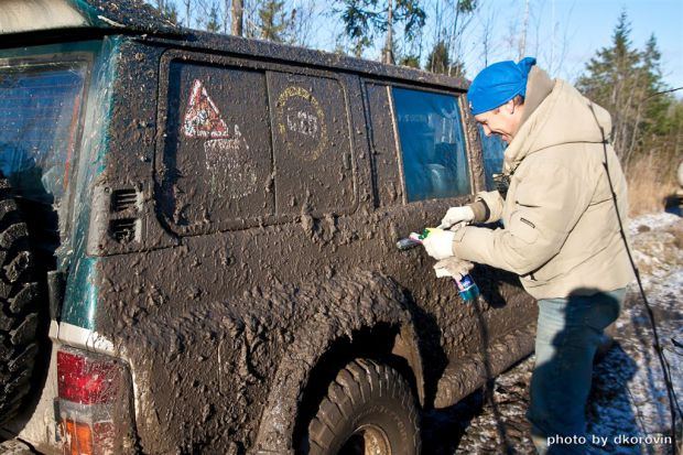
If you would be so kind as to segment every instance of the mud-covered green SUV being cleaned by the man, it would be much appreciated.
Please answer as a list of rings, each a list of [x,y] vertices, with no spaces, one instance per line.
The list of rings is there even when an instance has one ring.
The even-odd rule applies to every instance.
[[[466,83],[0,0],[0,426],[53,454],[418,454],[532,349],[397,240],[500,166]]]

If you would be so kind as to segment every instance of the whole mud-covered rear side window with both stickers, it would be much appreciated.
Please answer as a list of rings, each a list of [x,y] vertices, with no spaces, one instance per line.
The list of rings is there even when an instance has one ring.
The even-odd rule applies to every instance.
[[[353,209],[339,80],[170,57],[165,99],[158,194],[180,234]]]

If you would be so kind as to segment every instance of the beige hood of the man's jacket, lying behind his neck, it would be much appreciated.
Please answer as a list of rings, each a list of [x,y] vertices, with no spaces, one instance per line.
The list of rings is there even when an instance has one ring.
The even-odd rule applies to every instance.
[[[529,78],[522,124],[505,153],[503,171],[513,172],[528,155],[565,143],[608,141],[611,118],[564,80],[553,80],[542,69]]]

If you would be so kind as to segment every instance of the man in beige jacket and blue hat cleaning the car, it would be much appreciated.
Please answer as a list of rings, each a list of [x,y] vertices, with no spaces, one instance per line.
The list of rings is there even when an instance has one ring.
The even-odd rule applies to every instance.
[[[485,68],[468,100],[484,132],[508,143],[509,186],[451,208],[441,227],[452,230],[430,234],[425,249],[438,260],[520,275],[539,301],[532,438],[540,454],[583,454],[593,357],[633,279],[619,228],[627,193],[610,117],[529,57]],[[502,228],[468,226],[494,221]]]

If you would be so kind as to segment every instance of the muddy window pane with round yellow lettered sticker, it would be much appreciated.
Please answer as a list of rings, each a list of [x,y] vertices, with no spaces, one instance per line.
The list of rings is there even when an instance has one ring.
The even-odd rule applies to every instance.
[[[338,80],[268,73],[277,213],[338,213],[354,205],[346,97]]]

